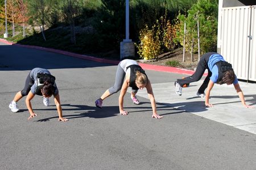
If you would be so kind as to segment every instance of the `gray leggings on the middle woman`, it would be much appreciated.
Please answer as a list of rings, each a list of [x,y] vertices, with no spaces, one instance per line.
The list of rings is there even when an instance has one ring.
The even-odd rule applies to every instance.
[[[125,71],[123,71],[122,67],[120,66],[120,63],[117,66],[117,73],[115,74],[115,83],[113,87],[109,88],[109,94],[115,94],[119,90],[121,90],[123,85],[123,80],[125,80]],[[131,90],[134,94],[138,92],[138,90]]]

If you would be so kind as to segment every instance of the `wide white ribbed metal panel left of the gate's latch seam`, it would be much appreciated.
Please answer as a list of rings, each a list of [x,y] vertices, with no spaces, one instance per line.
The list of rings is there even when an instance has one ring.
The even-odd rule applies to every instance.
[[[250,6],[222,8],[221,54],[238,79],[248,78]]]

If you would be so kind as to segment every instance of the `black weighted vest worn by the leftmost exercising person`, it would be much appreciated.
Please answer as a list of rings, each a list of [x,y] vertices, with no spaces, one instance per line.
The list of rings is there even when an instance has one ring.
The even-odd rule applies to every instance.
[[[36,75],[36,95],[43,96],[41,90],[43,88],[44,82],[50,82],[53,85],[54,92],[56,90],[56,85],[55,85],[55,76],[47,73],[38,73]]]

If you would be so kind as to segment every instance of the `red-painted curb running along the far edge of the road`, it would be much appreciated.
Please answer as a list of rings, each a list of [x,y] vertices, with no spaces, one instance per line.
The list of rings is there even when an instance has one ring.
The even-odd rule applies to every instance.
[[[39,50],[44,50],[44,51],[47,51],[47,52],[64,54],[64,55],[67,55],[67,56],[81,58],[81,59],[87,59],[87,60],[95,61],[95,62],[110,63],[110,64],[114,64],[114,65],[117,65],[120,62],[120,61],[117,61],[117,60],[110,60],[110,59],[86,56],[86,55],[82,55],[82,54],[66,52],[66,51],[63,51],[63,50],[45,48],[45,47],[42,47],[42,46],[14,44],[14,43],[9,42],[5,39],[0,39],[0,41],[5,43],[5,44],[9,44],[9,45],[16,45],[16,46],[21,46],[21,47],[25,47],[25,48],[39,49]],[[139,63],[139,65],[145,70],[164,71],[164,72],[169,72],[169,73],[178,73],[178,74],[187,74],[187,75],[192,75],[193,73],[195,73],[195,71],[193,71],[193,70],[179,69],[179,68],[176,68],[176,67],[150,65],[150,64],[146,64],[146,63]],[[204,76],[207,76],[207,73],[205,73]]]

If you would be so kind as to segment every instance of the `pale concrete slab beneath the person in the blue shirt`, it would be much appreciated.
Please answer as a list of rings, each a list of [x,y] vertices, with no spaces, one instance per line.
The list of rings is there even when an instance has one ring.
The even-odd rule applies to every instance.
[[[213,121],[221,122],[234,128],[256,134],[256,109],[245,108],[237,95],[233,85],[214,84],[209,103],[213,108],[205,108],[204,99],[196,96],[196,92],[203,80],[191,83],[183,88],[182,96],[175,94],[174,82],[152,84],[155,99],[158,103],[170,105]],[[256,103],[256,84],[239,82],[245,95],[246,104]],[[138,92],[139,96],[147,97],[146,90]]]

